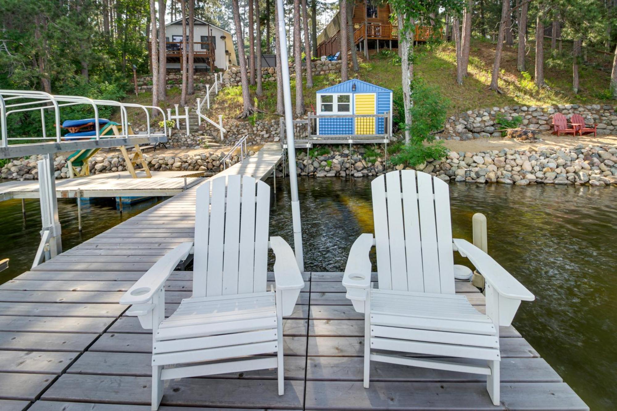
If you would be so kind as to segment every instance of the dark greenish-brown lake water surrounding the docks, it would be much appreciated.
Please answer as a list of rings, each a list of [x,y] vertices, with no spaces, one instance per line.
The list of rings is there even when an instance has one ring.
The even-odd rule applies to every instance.
[[[271,182],[271,180],[270,180]],[[270,235],[292,244],[288,181],[277,181]],[[536,301],[523,302],[514,325],[591,409],[616,409],[617,228],[614,188],[573,186],[450,185],[453,235],[471,240],[471,216],[488,219],[489,252]],[[351,244],[373,232],[370,181],[300,178],[306,271],[342,271]],[[139,214],[159,200],[125,207],[83,206],[60,199],[64,249]],[[0,202],[3,247],[10,268],[0,283],[28,270],[41,229],[38,200]],[[458,258],[458,264],[466,260]]]

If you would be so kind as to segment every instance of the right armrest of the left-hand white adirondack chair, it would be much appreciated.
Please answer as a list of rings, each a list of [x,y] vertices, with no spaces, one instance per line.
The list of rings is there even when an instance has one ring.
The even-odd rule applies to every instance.
[[[281,237],[270,237],[270,247],[276,257],[274,263],[276,293],[281,293],[283,315],[291,315],[300,295],[300,289],[304,288],[302,273],[296,255],[287,241]]]

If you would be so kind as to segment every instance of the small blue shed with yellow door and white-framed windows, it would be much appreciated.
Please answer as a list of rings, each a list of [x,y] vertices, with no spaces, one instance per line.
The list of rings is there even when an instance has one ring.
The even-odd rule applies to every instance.
[[[392,90],[347,80],[317,91],[317,115],[320,136],[386,135],[391,123]]]

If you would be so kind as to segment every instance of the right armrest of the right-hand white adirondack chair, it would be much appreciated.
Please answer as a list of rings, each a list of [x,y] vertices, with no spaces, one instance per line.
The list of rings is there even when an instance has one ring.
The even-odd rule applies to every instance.
[[[467,257],[487,283],[487,315],[499,325],[507,326],[512,322],[521,301],[534,301],[536,297],[516,278],[505,270],[486,252],[464,239],[452,239],[455,251]],[[488,289],[491,291],[488,291]],[[492,299],[494,291],[498,294]],[[489,295],[491,294],[491,295]],[[491,301],[493,300],[493,301]],[[490,310],[490,312],[489,312]],[[493,318],[498,313],[498,318]]]

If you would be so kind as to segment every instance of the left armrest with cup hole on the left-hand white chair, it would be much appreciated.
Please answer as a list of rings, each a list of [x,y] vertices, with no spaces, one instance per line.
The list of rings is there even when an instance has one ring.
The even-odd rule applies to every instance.
[[[135,305],[149,302],[152,296],[165,285],[165,280],[171,275],[176,265],[186,260],[192,248],[193,241],[182,243],[161,257],[120,297],[120,304]]]

